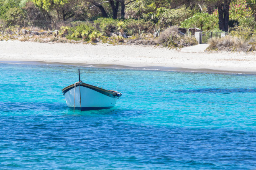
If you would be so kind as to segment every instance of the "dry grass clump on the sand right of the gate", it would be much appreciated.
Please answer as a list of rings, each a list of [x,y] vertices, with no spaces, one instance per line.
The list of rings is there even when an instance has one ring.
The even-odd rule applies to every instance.
[[[246,37],[231,37],[225,36],[222,38],[213,37],[209,41],[207,50],[220,50],[220,51],[255,51],[256,38],[251,37],[247,40]]]

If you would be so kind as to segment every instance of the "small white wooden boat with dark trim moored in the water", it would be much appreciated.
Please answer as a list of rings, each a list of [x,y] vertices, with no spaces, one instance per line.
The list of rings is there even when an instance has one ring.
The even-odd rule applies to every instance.
[[[80,79],[80,69],[78,74],[78,82],[62,89],[69,108],[84,111],[109,109],[115,106],[116,100],[122,93],[86,84]]]

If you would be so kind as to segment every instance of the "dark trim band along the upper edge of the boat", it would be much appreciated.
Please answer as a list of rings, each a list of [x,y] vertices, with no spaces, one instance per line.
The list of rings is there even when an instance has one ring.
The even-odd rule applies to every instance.
[[[77,84],[76,87],[79,86],[79,85],[80,85],[80,84]],[[115,97],[117,96],[117,93],[115,93],[115,92],[111,92],[111,91],[109,91],[109,90],[105,90],[105,89],[102,89],[102,88],[100,88],[100,87],[96,87],[96,86],[93,86],[93,85],[89,85],[89,84],[82,83],[81,86],[90,88],[90,89],[92,89],[92,90],[95,90],[95,91],[97,91],[97,92],[100,92],[100,93],[102,93],[103,95],[106,95],[106,96],[109,96],[109,97],[115,98]],[[74,84],[69,85],[69,86],[65,87],[64,89],[62,89],[62,92],[63,92],[63,94],[65,95],[65,93],[66,93],[67,91],[69,91],[69,90],[71,90],[71,89],[73,89],[73,88],[74,88]]]

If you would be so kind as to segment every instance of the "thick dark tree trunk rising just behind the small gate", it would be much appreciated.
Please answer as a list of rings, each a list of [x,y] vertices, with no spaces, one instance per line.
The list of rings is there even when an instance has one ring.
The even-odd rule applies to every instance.
[[[224,3],[219,3],[218,13],[219,13],[219,28],[224,32],[228,32],[228,21],[229,21],[229,5],[231,0],[224,0]]]

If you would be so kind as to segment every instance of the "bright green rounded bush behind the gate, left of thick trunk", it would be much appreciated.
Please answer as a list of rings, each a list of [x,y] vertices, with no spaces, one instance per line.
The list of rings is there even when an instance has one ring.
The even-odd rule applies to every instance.
[[[183,28],[200,28],[202,31],[218,29],[218,16],[208,13],[196,13],[181,23]]]

